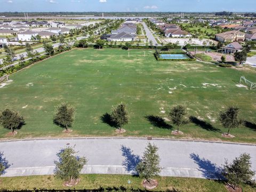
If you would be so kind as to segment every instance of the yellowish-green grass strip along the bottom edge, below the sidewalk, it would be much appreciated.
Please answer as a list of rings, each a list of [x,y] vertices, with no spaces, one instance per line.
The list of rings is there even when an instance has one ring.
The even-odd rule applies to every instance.
[[[207,180],[207,179],[193,179],[193,178],[173,178],[173,177],[157,177],[158,187],[153,191],[218,191],[226,192],[226,188],[222,182]],[[55,179],[52,175],[44,176],[29,176],[29,177],[13,177],[0,178],[2,180],[0,190],[25,190],[25,189],[99,189],[100,187],[124,187],[133,189],[142,189],[142,179],[132,177],[131,175],[101,175],[101,174],[86,174],[82,175],[81,181],[75,187],[63,187],[62,181]],[[128,184],[128,180],[131,184]],[[244,191],[252,192],[255,188],[250,186],[243,186]],[[123,190],[124,191],[124,190]]]

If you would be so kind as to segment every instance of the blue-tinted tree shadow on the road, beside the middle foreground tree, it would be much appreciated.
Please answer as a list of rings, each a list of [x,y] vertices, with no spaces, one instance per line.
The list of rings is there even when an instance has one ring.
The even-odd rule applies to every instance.
[[[122,165],[125,166],[125,170],[131,172],[133,175],[137,175],[136,166],[140,163],[141,159],[139,155],[134,155],[133,151],[129,147],[121,146],[122,156],[125,157]]]

